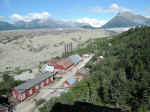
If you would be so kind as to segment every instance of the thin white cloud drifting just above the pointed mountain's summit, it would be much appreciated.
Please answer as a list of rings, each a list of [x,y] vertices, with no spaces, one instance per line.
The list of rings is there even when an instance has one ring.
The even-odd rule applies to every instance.
[[[131,9],[119,6],[116,3],[113,3],[108,7],[96,6],[92,10],[96,13],[118,13],[118,12],[124,12],[124,11],[132,12]]]

